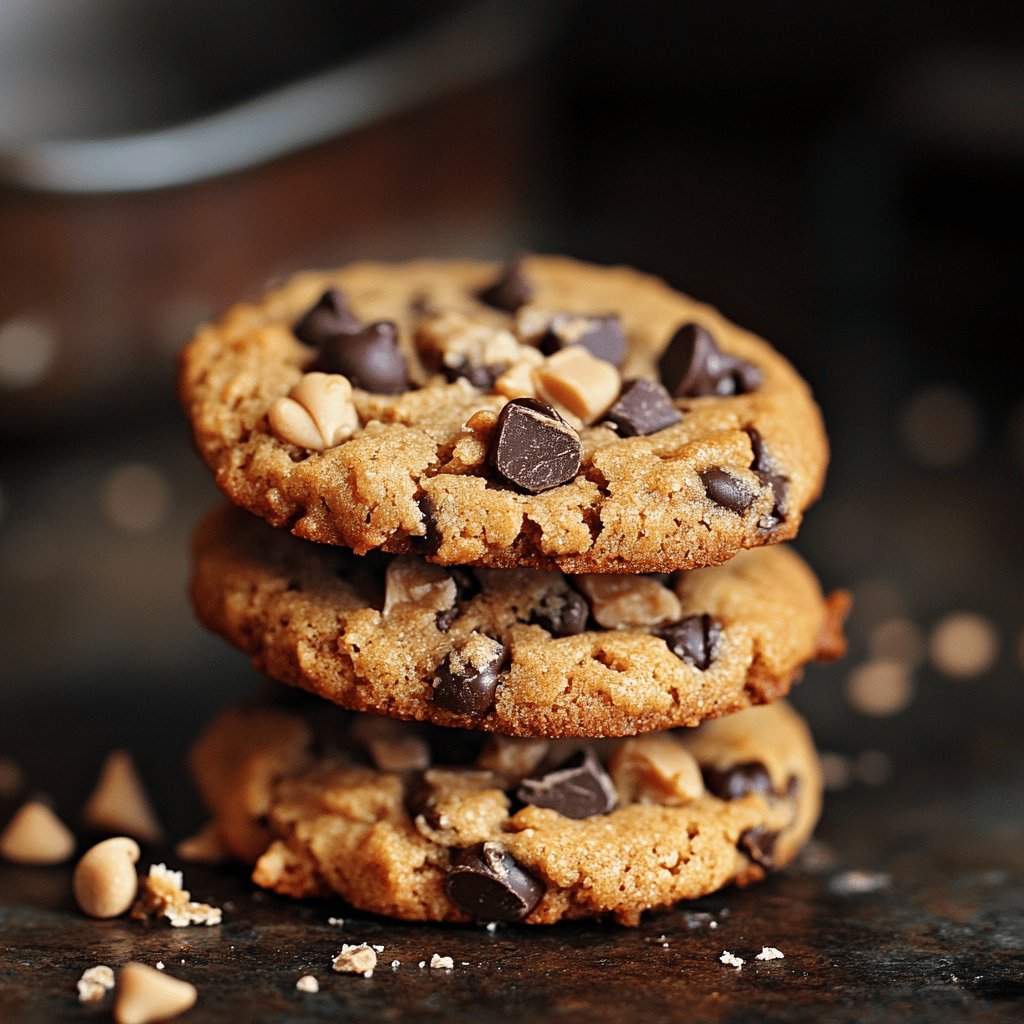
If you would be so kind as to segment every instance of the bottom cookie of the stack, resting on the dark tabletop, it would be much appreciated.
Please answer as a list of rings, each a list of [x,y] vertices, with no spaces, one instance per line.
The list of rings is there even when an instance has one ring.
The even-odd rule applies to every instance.
[[[258,885],[392,918],[636,925],[783,867],[820,808],[810,734],[783,701],[593,743],[324,708],[327,727],[324,711],[228,711],[193,773]]]

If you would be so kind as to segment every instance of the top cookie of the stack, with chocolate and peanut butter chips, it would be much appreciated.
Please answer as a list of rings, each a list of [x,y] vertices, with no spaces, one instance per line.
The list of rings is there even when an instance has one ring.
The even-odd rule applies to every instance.
[[[717,564],[796,536],[827,462],[766,342],[561,257],[299,274],[202,327],[180,392],[236,504],[442,565]]]

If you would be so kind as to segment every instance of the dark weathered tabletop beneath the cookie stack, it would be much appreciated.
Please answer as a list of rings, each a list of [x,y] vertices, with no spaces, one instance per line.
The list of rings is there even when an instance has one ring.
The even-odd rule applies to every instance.
[[[243,690],[253,683],[239,681]],[[805,684],[812,717],[815,691],[822,699],[830,688],[828,672]],[[85,684],[59,702],[18,698],[0,724],[0,750],[73,818],[101,752],[129,736],[172,834],[184,835],[200,811],[174,766],[206,717],[200,709],[209,708],[209,693],[136,689],[89,699],[90,691]],[[488,934],[402,925],[338,902],[263,894],[241,868],[182,865],[169,851],[147,851],[143,864],[166,856],[184,866],[194,896],[223,906],[224,923],[146,928],[81,916],[68,867],[0,866],[0,1020],[109,1019],[110,997],[80,1007],[75,982],[94,964],[129,959],[162,959],[168,973],[196,984],[199,1002],[182,1018],[195,1024],[1020,1020],[1024,763],[1012,714],[1019,703],[1012,689],[981,706],[965,696],[940,690],[916,723],[902,723],[907,744],[896,749],[890,781],[828,798],[802,865],[746,891],[648,914],[635,930],[575,924]],[[827,735],[828,724],[822,729]],[[54,751],[63,752],[59,760]],[[10,806],[0,808],[4,817]],[[872,876],[882,888],[851,894],[850,870],[884,872],[888,885]],[[331,916],[344,926],[329,924]],[[332,974],[341,943],[364,941],[385,947],[374,977]],[[785,958],[758,963],[764,945]],[[726,949],[743,957],[741,970],[719,963]],[[419,968],[433,952],[453,956],[456,969]],[[394,958],[401,964],[392,970]],[[306,973],[319,979],[318,993],[295,990]]]

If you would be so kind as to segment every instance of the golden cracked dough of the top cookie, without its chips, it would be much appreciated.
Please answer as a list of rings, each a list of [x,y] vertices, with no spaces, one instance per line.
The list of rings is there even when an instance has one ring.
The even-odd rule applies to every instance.
[[[796,536],[827,461],[807,385],[766,342],[626,267],[527,257],[521,271],[534,294],[519,314],[617,314],[629,340],[624,379],[656,379],[669,339],[696,322],[723,351],[754,364],[762,383],[731,397],[679,399],[682,421],[645,437],[621,438],[599,424],[584,427],[579,475],[551,490],[526,495],[497,482],[486,467],[487,424],[506,397],[431,375],[413,339],[424,309],[468,313],[510,329],[511,314],[476,298],[499,269],[423,261],[308,272],[200,329],[183,353],[180,393],[218,486],[236,504],[299,537],[360,553],[421,551],[446,565],[668,571],[717,564],[742,548]],[[359,429],[316,452],[279,439],[268,414],[313,362],[314,350],[292,328],[332,287],[344,291],[361,323],[397,325],[411,376],[422,386],[397,395],[355,388]],[[481,411],[489,419],[478,417],[476,429],[467,428]],[[772,529],[764,528],[771,488],[752,470],[755,453],[744,428],[760,433],[788,477],[785,519]],[[725,469],[757,495],[744,513],[708,498],[699,474],[710,468]],[[432,511],[425,515],[425,509]]]

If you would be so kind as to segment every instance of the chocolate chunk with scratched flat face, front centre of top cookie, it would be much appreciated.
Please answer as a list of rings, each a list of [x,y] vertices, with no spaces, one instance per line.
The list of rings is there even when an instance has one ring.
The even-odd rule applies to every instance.
[[[503,479],[537,495],[573,479],[582,455],[580,435],[550,406],[513,398],[498,417],[488,458]]]

